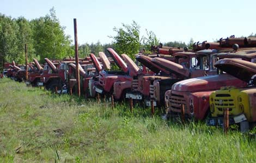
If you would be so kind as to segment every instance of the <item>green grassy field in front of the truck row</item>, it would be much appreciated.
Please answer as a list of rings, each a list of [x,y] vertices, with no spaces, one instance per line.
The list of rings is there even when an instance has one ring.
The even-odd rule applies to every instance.
[[[9,79],[0,79],[0,95],[0,162],[256,162],[254,134],[224,135]]]

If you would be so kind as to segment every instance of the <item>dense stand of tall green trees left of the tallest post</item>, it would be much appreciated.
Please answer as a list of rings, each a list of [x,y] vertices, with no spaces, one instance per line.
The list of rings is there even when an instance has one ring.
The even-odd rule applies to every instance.
[[[70,36],[60,26],[54,8],[50,9],[50,15],[31,21],[0,14],[0,69],[4,62],[25,63],[25,43],[29,61],[33,58],[42,61],[46,57],[62,59],[74,54]]]

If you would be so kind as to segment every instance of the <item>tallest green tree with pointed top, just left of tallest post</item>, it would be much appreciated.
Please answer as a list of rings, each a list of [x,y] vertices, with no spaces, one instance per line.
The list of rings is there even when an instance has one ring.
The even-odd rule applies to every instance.
[[[65,27],[60,26],[54,8],[50,9],[50,15],[40,17],[32,21],[35,53],[44,58],[62,59],[74,55],[71,49],[70,36],[65,35]]]

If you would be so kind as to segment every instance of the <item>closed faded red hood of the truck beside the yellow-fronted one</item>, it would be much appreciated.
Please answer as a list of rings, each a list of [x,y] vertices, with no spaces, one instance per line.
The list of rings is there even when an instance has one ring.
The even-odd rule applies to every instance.
[[[175,83],[172,86],[174,91],[209,91],[218,90],[222,86],[245,86],[246,83],[242,80],[237,79],[229,74],[218,74],[215,76],[206,76],[199,78],[192,78],[187,80],[182,80]]]

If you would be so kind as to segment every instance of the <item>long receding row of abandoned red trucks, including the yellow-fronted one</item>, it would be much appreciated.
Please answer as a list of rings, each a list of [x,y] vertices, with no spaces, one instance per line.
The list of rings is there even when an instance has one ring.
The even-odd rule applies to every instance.
[[[81,90],[86,98],[98,95],[114,101],[129,99],[130,105],[154,105],[164,110],[167,118],[184,112],[186,118],[206,120],[209,126],[222,126],[223,111],[228,109],[229,124],[238,124],[241,131],[254,127],[255,37],[230,36],[218,42],[197,42],[193,49],[160,44],[152,47],[153,54],[136,54],[136,62],[112,48],[107,52],[108,57],[100,52],[99,57],[90,54],[79,60]],[[5,67],[8,69],[4,76],[24,80],[25,66],[13,62]],[[34,59],[28,67],[27,84],[58,93],[77,91],[72,58],[45,58],[44,66]]]

